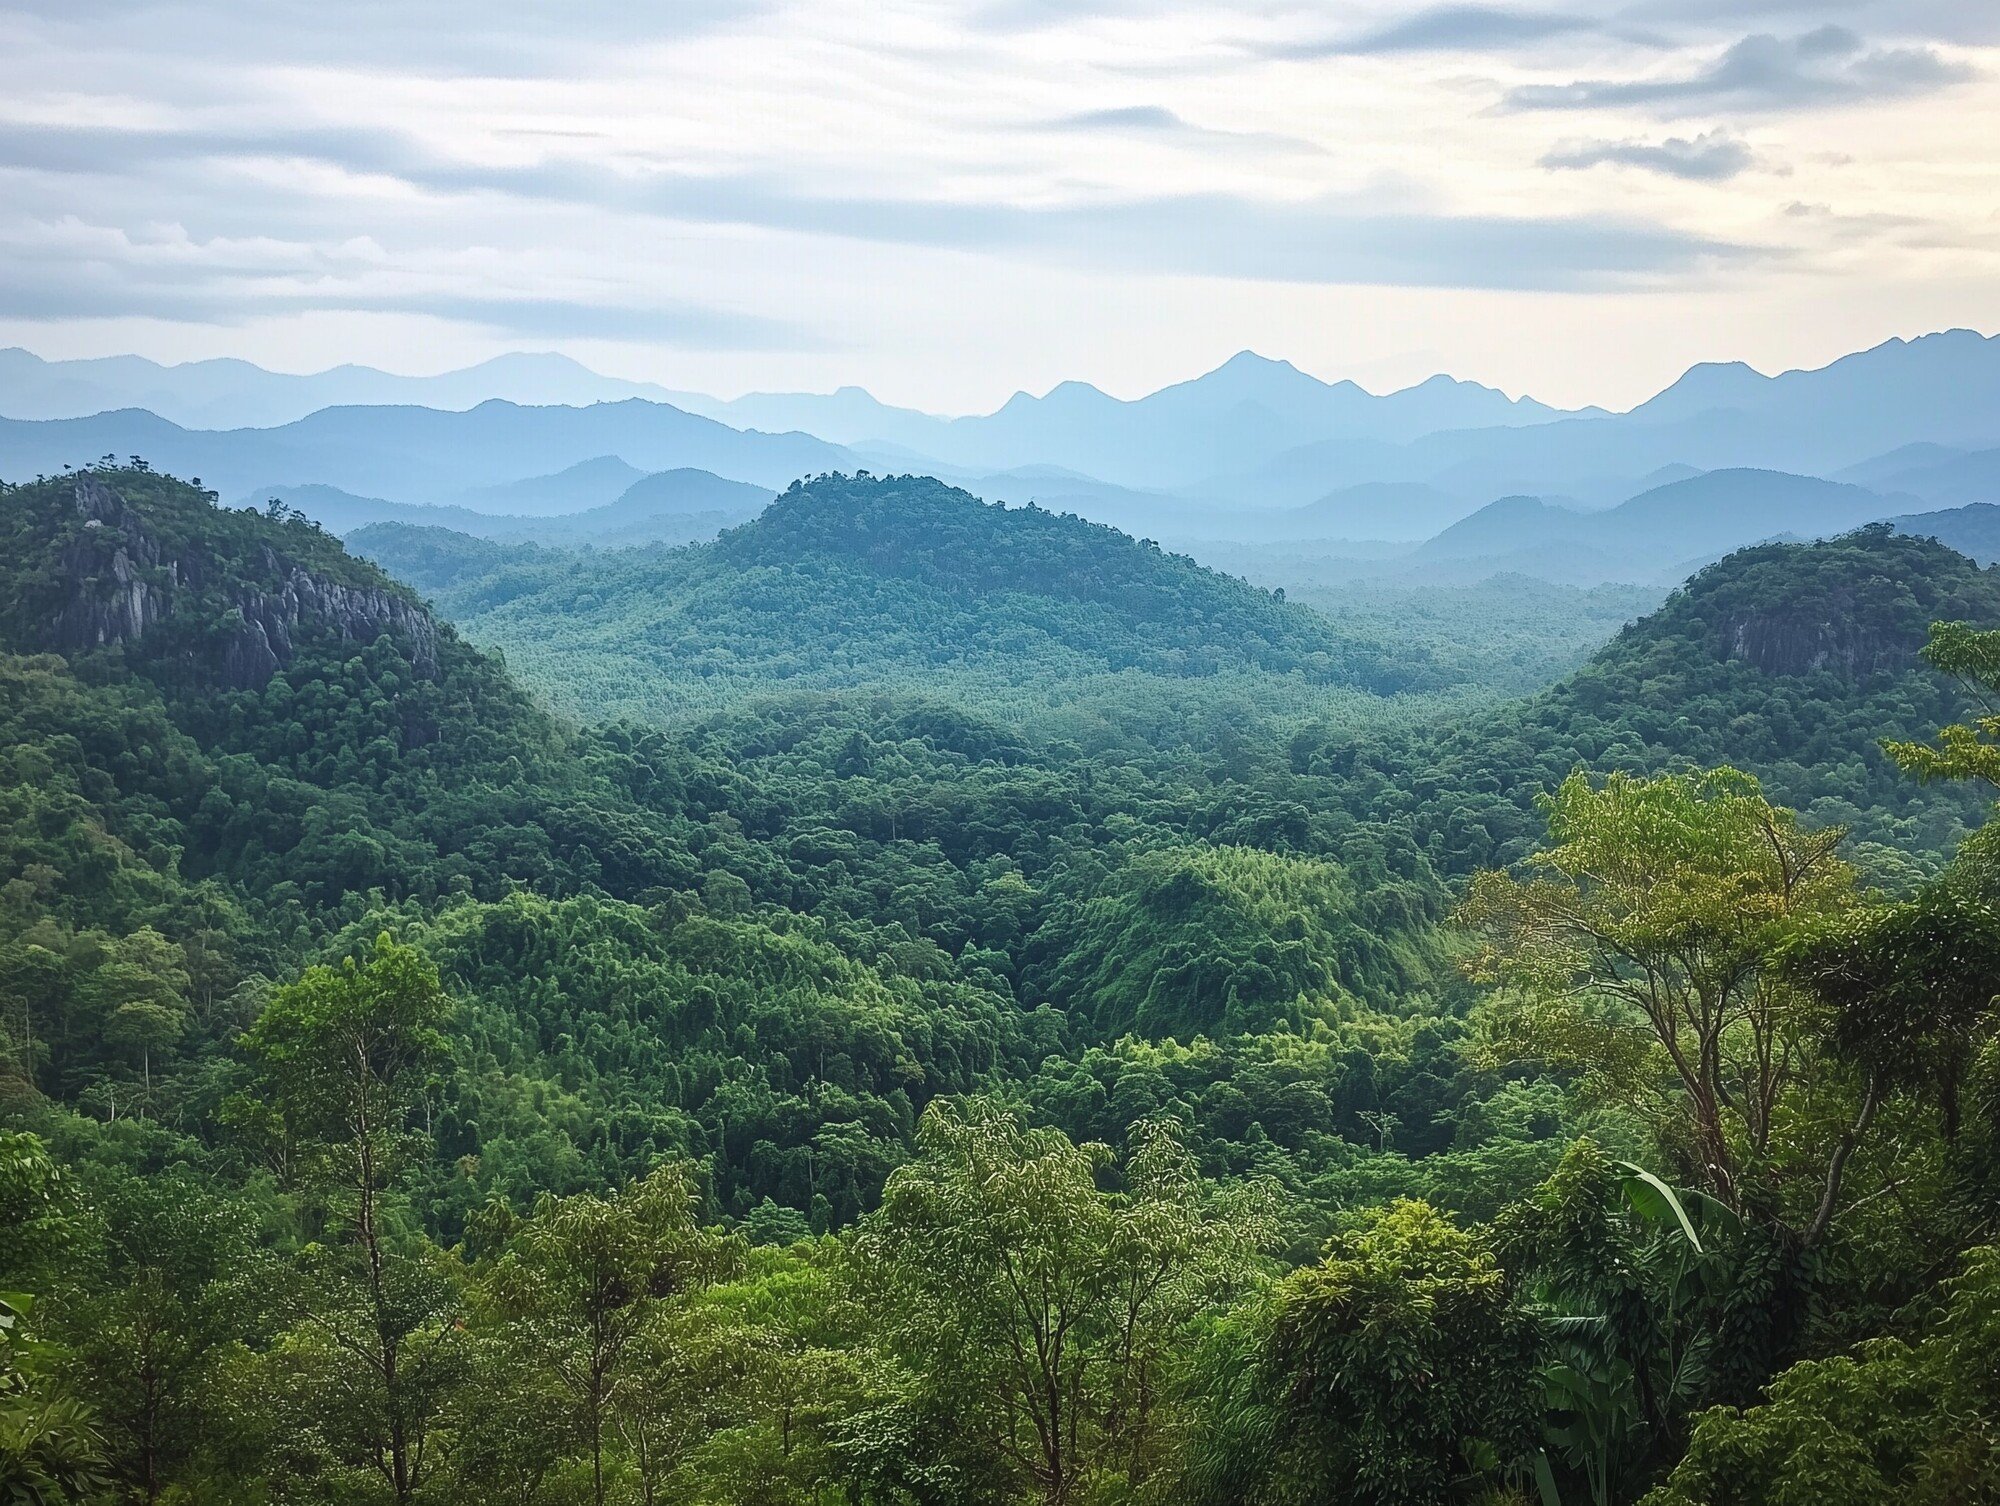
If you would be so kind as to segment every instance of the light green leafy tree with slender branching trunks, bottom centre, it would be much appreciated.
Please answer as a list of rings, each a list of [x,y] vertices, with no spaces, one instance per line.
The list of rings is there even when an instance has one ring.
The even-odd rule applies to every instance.
[[[1030,1130],[986,1102],[938,1102],[858,1238],[918,1414],[948,1414],[1020,1484],[1068,1506],[1160,1454],[1156,1408],[1180,1324],[1254,1268],[1272,1220],[1218,1204],[1166,1124],[1104,1146]]]

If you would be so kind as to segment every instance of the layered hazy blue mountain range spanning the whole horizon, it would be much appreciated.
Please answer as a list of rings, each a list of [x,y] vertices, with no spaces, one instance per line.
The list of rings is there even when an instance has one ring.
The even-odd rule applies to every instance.
[[[400,402],[232,428],[166,416],[268,416],[350,396]],[[48,416],[104,398],[154,410]],[[2000,338],[1970,330],[1778,376],[1704,364],[1622,414],[1442,376],[1376,396],[1250,352],[1136,400],[1064,382],[992,414],[938,418],[860,388],[716,400],[560,356],[400,378],[18,350],[0,352],[0,478],[16,482],[144,456],[228,498],[280,496],[336,532],[400,520],[550,544],[686,542],[748,516],[748,490],[704,508],[604,512],[666,472],[768,496],[872,468],[1196,552],[1310,540],[1378,574],[1660,582],[1760,538],[2000,500]],[[704,512],[714,516],[696,524]],[[532,522],[564,514],[582,520]]]

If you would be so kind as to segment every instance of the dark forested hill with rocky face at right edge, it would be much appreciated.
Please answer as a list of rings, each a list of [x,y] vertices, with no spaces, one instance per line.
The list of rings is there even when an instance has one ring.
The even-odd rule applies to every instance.
[[[1536,696],[1434,730],[1308,728],[1292,764],[1340,782],[1354,812],[1412,822],[1458,874],[1524,856],[1542,832],[1534,798],[1572,768],[1734,764],[1814,822],[1934,858],[1978,826],[1986,796],[1916,784],[1882,740],[1966,712],[1918,662],[1938,620],[2000,622],[2000,570],[1888,526],[1764,544],[1708,566]]]

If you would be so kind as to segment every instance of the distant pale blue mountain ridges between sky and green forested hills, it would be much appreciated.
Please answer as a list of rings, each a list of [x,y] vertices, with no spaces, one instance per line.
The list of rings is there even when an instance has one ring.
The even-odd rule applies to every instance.
[[[148,384],[168,380],[198,388],[202,402],[222,402],[246,374],[256,368],[244,362],[64,364],[0,352],[0,402],[14,392],[60,408],[96,390],[90,382],[152,392]],[[514,516],[604,506],[618,482],[664,470],[706,470],[776,492],[802,476],[870,468],[936,474],[1138,536],[1234,542],[1416,542],[1494,498],[1606,506],[1700,472],[1786,472],[1914,498],[1876,518],[1924,502],[2000,500],[2000,336],[1974,330],[1888,340],[1778,376],[1742,362],[1702,364],[1622,414],[1562,412],[1444,376],[1376,396],[1252,352],[1134,400],[1060,382],[968,418],[896,408],[862,388],[730,400],[646,388],[648,396],[584,402],[638,384],[604,386],[608,378],[544,356],[438,378],[366,368],[320,376],[272,380],[290,384],[292,398],[386,382],[396,392],[436,392],[444,406],[338,406],[230,430],[190,428],[140,408],[8,418],[0,420],[0,476],[22,480],[138,454],[234,496],[330,486]],[[466,398],[482,382],[558,384],[582,406],[498,398],[450,406],[448,398]],[[1542,524],[1568,528],[1560,518]],[[1746,540],[1728,540],[1736,542]],[[1514,552],[1534,546],[1536,536],[1524,536]],[[1682,550],[1662,534],[1660,548],[1674,552],[1646,560],[1648,578],[1700,558],[1708,542]]]

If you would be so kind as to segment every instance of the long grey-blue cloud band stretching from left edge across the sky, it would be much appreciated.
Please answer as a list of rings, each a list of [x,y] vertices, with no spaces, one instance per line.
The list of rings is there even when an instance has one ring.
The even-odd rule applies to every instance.
[[[832,194],[756,172],[634,172],[562,156],[532,166],[464,162],[386,132],[230,138],[118,128],[0,130],[0,162],[54,164],[66,174],[232,154],[322,160],[444,198],[496,196],[1070,268],[1256,282],[1616,288],[1764,254],[1630,218],[1382,212],[1354,196],[1274,200],[1194,192],[1012,202]]]

